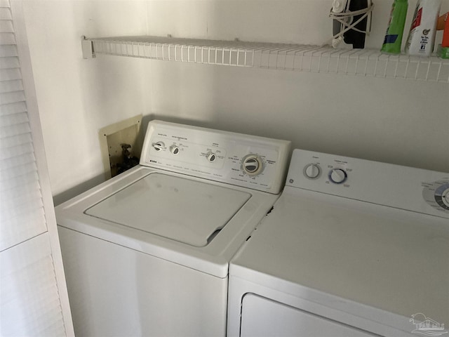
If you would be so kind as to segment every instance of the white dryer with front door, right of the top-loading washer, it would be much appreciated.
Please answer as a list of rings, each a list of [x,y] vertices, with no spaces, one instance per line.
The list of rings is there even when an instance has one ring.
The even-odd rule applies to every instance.
[[[449,173],[294,150],[229,267],[228,336],[448,336]]]

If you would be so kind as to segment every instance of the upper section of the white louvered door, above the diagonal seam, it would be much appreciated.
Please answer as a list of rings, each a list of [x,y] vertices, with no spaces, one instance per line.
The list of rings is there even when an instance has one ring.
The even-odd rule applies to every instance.
[[[0,1],[0,251],[46,230],[11,8]]]

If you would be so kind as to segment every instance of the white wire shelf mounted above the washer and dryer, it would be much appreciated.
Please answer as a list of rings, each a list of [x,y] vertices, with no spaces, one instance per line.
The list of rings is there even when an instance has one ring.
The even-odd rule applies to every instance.
[[[449,83],[449,60],[387,55],[373,49],[174,37],[81,38],[83,58],[119,55],[208,65],[256,67]]]

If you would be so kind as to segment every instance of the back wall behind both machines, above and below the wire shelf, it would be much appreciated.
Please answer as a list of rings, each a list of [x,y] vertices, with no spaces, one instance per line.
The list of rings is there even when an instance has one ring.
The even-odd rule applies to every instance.
[[[392,1],[376,0],[380,49]],[[406,33],[416,1],[409,1]],[[322,44],[330,0],[149,1],[150,35]],[[442,11],[449,10],[443,1]],[[441,41],[442,34],[436,39]],[[405,44],[406,37],[403,44]],[[285,138],[294,147],[449,171],[449,85],[151,62],[152,113]]]

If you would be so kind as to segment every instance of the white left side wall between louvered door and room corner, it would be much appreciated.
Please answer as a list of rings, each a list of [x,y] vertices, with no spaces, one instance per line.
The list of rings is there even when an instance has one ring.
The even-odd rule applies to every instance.
[[[142,60],[83,60],[81,35],[145,34],[146,4],[26,0],[23,9],[52,192],[62,201],[104,180],[98,130],[151,102]]]

